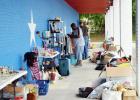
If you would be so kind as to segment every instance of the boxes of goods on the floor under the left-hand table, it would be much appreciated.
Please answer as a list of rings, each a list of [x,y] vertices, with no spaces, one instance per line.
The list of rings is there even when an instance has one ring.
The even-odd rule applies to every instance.
[[[14,97],[14,86],[12,84],[6,86],[3,89],[4,98],[13,98]],[[15,87],[16,96],[14,100],[37,100],[38,97],[38,85],[37,84],[27,84],[21,85],[16,84]],[[9,100],[9,99],[8,99]]]

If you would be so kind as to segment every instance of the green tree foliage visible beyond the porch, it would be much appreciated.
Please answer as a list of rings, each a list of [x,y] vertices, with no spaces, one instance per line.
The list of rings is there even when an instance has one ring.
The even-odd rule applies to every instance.
[[[104,14],[81,14],[80,20],[87,19],[92,33],[102,33],[105,26]],[[136,0],[132,0],[133,33],[136,32]]]

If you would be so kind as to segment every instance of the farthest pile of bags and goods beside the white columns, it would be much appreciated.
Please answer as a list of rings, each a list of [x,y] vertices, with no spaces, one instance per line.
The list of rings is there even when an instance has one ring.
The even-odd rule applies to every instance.
[[[117,47],[113,44],[113,38],[105,40],[103,43],[104,51],[93,52],[91,61],[97,64],[95,70],[104,70],[105,66],[113,59],[119,58]]]

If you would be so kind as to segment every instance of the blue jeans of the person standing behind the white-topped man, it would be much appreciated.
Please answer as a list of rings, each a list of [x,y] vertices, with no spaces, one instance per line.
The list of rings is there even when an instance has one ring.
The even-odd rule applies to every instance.
[[[84,36],[84,40],[85,40],[85,46],[84,46],[84,52],[83,52],[83,59],[87,59],[88,58],[89,37]]]

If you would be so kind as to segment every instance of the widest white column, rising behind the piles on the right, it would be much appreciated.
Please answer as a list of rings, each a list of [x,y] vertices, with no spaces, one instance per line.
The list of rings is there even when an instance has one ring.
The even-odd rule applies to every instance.
[[[132,55],[132,0],[120,0],[121,47],[127,56]],[[123,53],[122,53],[123,55]]]

